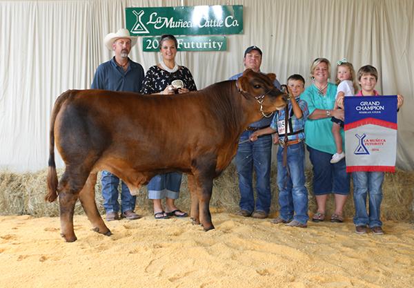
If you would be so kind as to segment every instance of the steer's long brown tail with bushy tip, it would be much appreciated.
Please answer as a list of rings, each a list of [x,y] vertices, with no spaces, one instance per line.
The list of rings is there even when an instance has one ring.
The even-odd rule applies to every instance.
[[[70,97],[72,90],[68,90],[62,93],[53,106],[52,117],[50,117],[50,131],[49,131],[49,162],[48,162],[48,193],[45,196],[45,200],[53,202],[57,198],[57,173],[55,164],[55,121],[57,113],[59,113],[63,102]]]

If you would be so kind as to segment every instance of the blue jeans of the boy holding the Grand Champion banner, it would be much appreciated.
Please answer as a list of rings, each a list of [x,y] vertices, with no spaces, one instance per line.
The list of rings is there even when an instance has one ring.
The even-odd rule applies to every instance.
[[[380,207],[382,202],[382,182],[384,172],[353,172],[356,226],[369,225],[370,228],[382,226]],[[369,193],[369,214],[366,211],[366,195]]]

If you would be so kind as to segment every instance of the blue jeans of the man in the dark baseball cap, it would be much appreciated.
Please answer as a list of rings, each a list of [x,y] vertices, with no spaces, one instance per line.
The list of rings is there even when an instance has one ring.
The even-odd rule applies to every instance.
[[[244,131],[239,142],[248,140],[252,131]],[[236,154],[236,168],[239,175],[240,209],[249,212],[269,213],[272,193],[270,192],[270,162],[272,136],[264,135],[255,142],[239,144]],[[256,174],[257,200],[253,194],[253,169]]]

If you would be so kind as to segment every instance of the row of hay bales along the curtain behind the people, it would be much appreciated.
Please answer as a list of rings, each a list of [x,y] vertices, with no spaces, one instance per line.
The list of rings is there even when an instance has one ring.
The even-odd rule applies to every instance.
[[[63,170],[59,169],[57,173],[60,177]],[[310,169],[306,170],[306,187],[309,191],[309,211],[311,213],[316,210],[315,197],[312,190],[312,176],[312,171]],[[58,202],[48,203],[44,200],[47,190],[46,177],[47,169],[38,173],[0,173],[0,214],[29,214],[35,217],[59,215]],[[273,193],[270,213],[275,213],[279,210],[276,177],[277,168],[273,166],[270,175],[270,186]],[[382,218],[384,220],[414,220],[414,172],[397,170],[396,173],[386,173],[383,192]],[[95,186],[95,200],[99,212],[101,214],[105,213],[102,205],[100,175],[98,175],[98,181]],[[234,213],[239,209],[239,200],[237,171],[235,165],[230,164],[224,173],[214,181],[210,207],[213,211]],[[180,197],[176,203],[181,209],[189,211],[191,200],[186,175],[183,175]],[[141,188],[139,195],[137,195],[137,207],[140,211],[152,213],[152,201],[147,198],[146,187]],[[77,202],[75,214],[83,213],[81,204]],[[333,213],[333,197],[330,197],[326,203],[326,213],[327,215]],[[351,218],[353,215],[354,207],[351,193],[344,207],[344,216]]]

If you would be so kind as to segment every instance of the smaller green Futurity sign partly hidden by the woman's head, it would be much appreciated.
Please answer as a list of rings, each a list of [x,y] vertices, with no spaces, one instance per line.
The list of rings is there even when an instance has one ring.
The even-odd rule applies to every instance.
[[[144,52],[159,51],[160,37],[143,37],[142,47]],[[188,36],[176,37],[178,51],[226,51],[227,39],[225,36]]]

